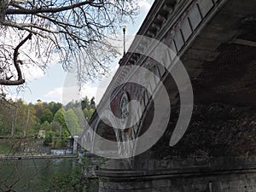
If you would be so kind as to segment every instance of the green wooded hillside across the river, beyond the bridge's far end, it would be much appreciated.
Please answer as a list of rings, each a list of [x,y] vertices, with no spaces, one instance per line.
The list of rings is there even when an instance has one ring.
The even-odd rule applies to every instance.
[[[89,120],[95,111],[94,97],[62,106],[60,102],[26,103],[22,100],[0,99],[1,138],[44,138],[44,145],[63,147],[67,138],[84,129],[83,120]],[[69,129],[68,129],[69,128]]]

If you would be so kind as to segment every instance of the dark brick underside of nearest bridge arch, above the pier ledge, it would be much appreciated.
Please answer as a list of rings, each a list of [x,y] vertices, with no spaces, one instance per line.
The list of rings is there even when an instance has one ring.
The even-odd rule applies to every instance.
[[[182,140],[169,147],[179,113],[179,106],[172,108],[168,131],[152,149],[155,158],[256,154],[256,12],[250,11],[256,2],[251,3],[226,3],[183,54],[195,96],[193,116]]]

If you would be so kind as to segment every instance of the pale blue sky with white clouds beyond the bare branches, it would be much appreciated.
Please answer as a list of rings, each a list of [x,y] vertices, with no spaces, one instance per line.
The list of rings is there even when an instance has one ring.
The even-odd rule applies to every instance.
[[[124,23],[124,25],[127,26],[127,36],[136,35],[153,3],[154,0],[138,0],[140,14],[137,15],[135,23]],[[122,28],[120,27],[120,35],[122,34]],[[111,68],[111,74],[113,75],[115,70],[118,68],[118,61],[113,62]],[[26,86],[19,89],[18,92],[16,90],[12,90],[11,97],[14,99],[21,98],[27,103],[35,103],[38,99],[43,102],[63,103],[63,87],[66,86],[65,81],[69,76],[70,74],[67,74],[62,69],[61,64],[52,64],[45,70],[45,72],[43,72],[41,69],[34,68],[30,74],[26,75]],[[102,84],[102,82],[103,85],[99,86],[99,84]],[[104,90],[106,90],[108,86],[108,83],[104,82],[104,79],[102,79],[102,82],[85,84],[81,94],[83,96],[88,96],[89,98],[95,96],[96,103],[99,103]],[[72,92],[73,90],[67,91]]]

